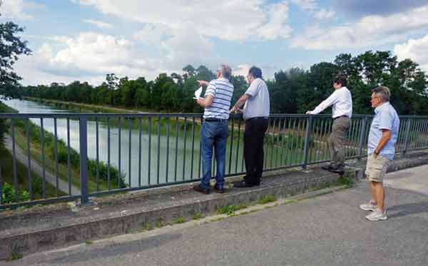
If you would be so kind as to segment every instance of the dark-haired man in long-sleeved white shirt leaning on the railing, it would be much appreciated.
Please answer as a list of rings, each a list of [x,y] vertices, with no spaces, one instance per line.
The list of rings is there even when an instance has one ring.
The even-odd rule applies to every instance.
[[[345,166],[345,138],[350,129],[352,117],[352,96],[346,88],[347,82],[344,76],[338,76],[333,81],[335,92],[330,95],[325,101],[322,101],[312,111],[307,111],[307,114],[316,115],[325,110],[325,108],[333,106],[332,118],[333,126],[332,133],[328,139],[330,147],[330,165],[323,166],[322,169],[332,173],[343,174]]]

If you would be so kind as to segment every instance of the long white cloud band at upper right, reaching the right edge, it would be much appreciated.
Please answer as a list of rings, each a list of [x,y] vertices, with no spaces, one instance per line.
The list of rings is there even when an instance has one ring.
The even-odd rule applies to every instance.
[[[428,6],[391,16],[365,16],[354,24],[318,29],[313,26],[291,41],[292,47],[314,50],[363,48],[402,41],[410,32],[427,29]]]

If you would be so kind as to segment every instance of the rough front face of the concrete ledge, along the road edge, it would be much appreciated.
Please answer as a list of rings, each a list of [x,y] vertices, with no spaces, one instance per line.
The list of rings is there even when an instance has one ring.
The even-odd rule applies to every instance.
[[[427,153],[424,155],[424,157],[412,158],[411,160],[393,162],[389,166],[389,171],[428,164]],[[362,170],[363,167],[364,164],[360,163],[356,168],[351,168],[350,174],[353,175],[355,179],[361,178],[362,173],[364,173]],[[93,219],[90,222],[58,226],[36,232],[1,236],[0,259],[10,257],[12,253],[27,255],[66,245],[73,245],[89,239],[123,234],[141,228],[148,223],[154,225],[158,221],[169,222],[176,218],[188,220],[192,218],[195,213],[215,213],[218,208],[224,205],[253,203],[266,195],[275,195],[277,198],[287,198],[291,195],[305,193],[314,188],[325,187],[326,185],[335,183],[338,178],[338,175],[332,174],[312,177],[307,175],[307,178],[300,178],[300,180],[290,178],[287,182],[270,183],[263,187],[235,193],[225,193],[211,198],[195,198],[195,200],[188,200],[185,203],[171,205],[157,210],[134,213],[121,212],[107,218]]]

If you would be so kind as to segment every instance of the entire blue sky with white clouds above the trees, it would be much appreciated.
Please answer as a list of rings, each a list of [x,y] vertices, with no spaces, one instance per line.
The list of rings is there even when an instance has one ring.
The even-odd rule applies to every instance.
[[[428,71],[428,0],[2,0],[24,26],[24,85],[183,73],[189,63],[265,78],[340,53],[392,51]]]

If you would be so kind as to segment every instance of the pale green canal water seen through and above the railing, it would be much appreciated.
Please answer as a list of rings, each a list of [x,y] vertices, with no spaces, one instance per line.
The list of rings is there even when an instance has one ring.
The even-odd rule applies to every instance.
[[[7,106],[16,109],[19,113],[76,113],[76,111],[66,108],[49,106],[44,103],[19,99],[2,99]],[[31,118],[31,121],[40,126],[39,118]],[[113,122],[113,121],[112,121]],[[170,132],[175,133],[175,118],[170,123]],[[44,118],[44,129],[54,133],[54,119]],[[140,156],[140,133],[138,126],[133,128],[123,127],[121,129],[121,142],[119,143],[118,123],[110,123],[110,163],[118,168],[119,150],[121,150],[121,172],[126,175],[126,183],[136,187],[138,185],[154,185],[157,183],[170,183],[181,180],[196,179],[202,175],[200,167],[200,138],[199,127],[195,125],[195,135],[193,138],[192,122],[187,123],[187,130],[184,138],[183,122],[180,123],[178,137],[165,133],[166,124],[161,125],[161,134],[158,137],[156,130],[151,135],[147,130],[147,119],[141,134],[141,171],[139,171]],[[157,128],[157,118],[152,119],[152,128]],[[241,127],[240,145],[238,140],[230,149],[228,142],[226,155],[226,174],[240,173],[245,170],[243,163],[243,127]],[[131,132],[131,134],[130,134]],[[66,119],[57,119],[58,139],[67,143],[67,124]],[[108,126],[106,121],[98,121],[98,154],[99,160],[108,163]],[[235,131],[235,138],[237,136]],[[151,140],[149,142],[149,139]],[[177,141],[176,141],[177,140]],[[70,119],[70,145],[74,150],[79,150],[79,127],[78,121]],[[149,150],[150,146],[150,150]],[[159,151],[159,153],[158,153]],[[149,153],[150,165],[149,165]],[[131,156],[130,156],[131,154]],[[96,159],[96,121],[88,120],[88,158]],[[193,160],[192,160],[193,158]],[[231,159],[231,160],[230,160]],[[130,165],[131,164],[131,165]],[[149,167],[150,166],[150,167]]]

